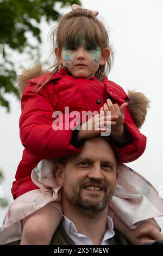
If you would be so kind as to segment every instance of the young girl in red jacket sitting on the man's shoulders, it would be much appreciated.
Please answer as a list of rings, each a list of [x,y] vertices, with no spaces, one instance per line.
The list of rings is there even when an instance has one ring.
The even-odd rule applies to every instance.
[[[55,111],[63,113],[61,123],[68,126],[72,111],[80,114],[83,111],[111,111],[111,121],[105,120],[105,124],[111,124],[110,139],[121,163],[136,160],[146,147],[146,137],[134,124],[127,107],[128,95],[106,77],[112,64],[112,50],[102,22],[91,11],[76,9],[60,17],[52,38],[57,56],[53,71],[42,71],[37,64],[19,78],[22,93],[20,137],[25,149],[11,190],[16,200],[1,229],[1,243],[20,237],[21,245],[50,243],[61,221],[61,198],[60,187],[52,172],[48,172],[54,168],[54,162],[49,160],[78,152],[83,139],[105,131],[95,130],[94,119],[91,131],[82,130],[85,125],[82,119],[78,123],[81,130],[65,129],[65,126],[57,130],[57,124],[53,123]],[[144,97],[143,100],[147,107],[148,101]],[[69,113],[65,113],[65,106],[69,107]],[[143,109],[146,112],[146,108]],[[145,113],[142,115],[144,119]],[[103,122],[100,115],[99,122]],[[47,160],[42,162],[42,159]],[[39,162],[45,166],[36,167]],[[36,185],[31,179],[35,167],[37,174],[40,170],[43,173],[39,177],[33,172]]]

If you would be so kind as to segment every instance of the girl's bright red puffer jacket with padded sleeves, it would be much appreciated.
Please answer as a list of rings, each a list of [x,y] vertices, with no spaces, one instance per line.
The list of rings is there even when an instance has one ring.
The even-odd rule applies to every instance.
[[[34,77],[32,75],[33,72],[30,77]],[[106,77],[102,82],[99,82],[96,77],[75,78],[64,68],[54,75],[38,93],[33,93],[36,84],[41,81],[41,86],[50,75],[41,75],[28,80],[28,85],[25,85],[22,93],[20,137],[25,149],[17,168],[16,181],[11,188],[14,199],[23,193],[37,189],[30,174],[40,160],[54,159],[80,150],[71,144],[72,130],[53,130],[54,111],[64,113],[64,107],[68,106],[70,112],[74,110],[93,112],[99,111],[108,97],[120,106],[129,100],[124,90],[116,83],[108,81]],[[26,80],[26,76],[23,76],[23,80]],[[120,161],[127,163],[142,155],[146,148],[146,137],[134,124],[128,108],[125,112],[124,124],[130,133],[131,144],[122,148],[116,145],[114,147]]]

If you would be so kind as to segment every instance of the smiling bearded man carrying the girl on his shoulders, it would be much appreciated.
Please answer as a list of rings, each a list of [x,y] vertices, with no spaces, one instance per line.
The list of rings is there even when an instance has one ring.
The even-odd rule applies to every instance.
[[[64,216],[51,245],[128,245],[107,216],[117,181],[116,167],[114,150],[101,137],[87,139],[79,153],[59,160],[55,179],[62,186]],[[141,233],[162,239],[156,229],[144,228]],[[7,245],[18,244],[20,241]]]

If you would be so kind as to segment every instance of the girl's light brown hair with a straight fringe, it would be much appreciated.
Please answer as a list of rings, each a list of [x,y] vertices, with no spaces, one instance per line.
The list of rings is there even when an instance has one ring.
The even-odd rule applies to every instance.
[[[110,56],[105,65],[99,66],[95,76],[99,81],[102,81],[105,75],[108,75],[113,63],[114,53],[110,46],[108,33],[101,21],[87,9],[78,8],[64,16],[60,16],[58,19],[58,25],[52,28],[50,38],[53,43],[53,56],[54,61],[50,67],[52,76],[55,75],[61,68],[60,59],[61,51],[64,46],[76,44],[80,45],[83,39],[95,46],[99,46],[102,49],[108,47],[110,50]],[[58,47],[57,59],[54,56],[54,48]],[[52,77],[51,76],[51,77]],[[51,79],[49,79],[41,86],[41,89]],[[38,90],[37,90],[38,92]]]

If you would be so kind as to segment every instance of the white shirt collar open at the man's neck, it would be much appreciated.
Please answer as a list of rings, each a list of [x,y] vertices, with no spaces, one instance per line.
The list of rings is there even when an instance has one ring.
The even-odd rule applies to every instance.
[[[70,236],[75,245],[93,245],[89,237],[78,233],[76,226],[72,221],[69,220],[69,218],[67,218],[65,215],[62,216],[64,217],[63,226],[65,231],[67,235]],[[108,229],[105,232],[101,245],[109,245],[109,239],[115,235],[112,218],[109,216],[107,216],[107,227]]]

